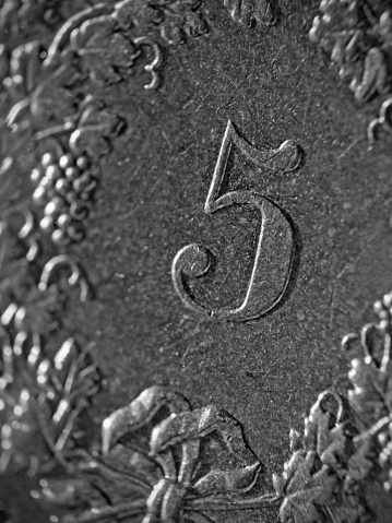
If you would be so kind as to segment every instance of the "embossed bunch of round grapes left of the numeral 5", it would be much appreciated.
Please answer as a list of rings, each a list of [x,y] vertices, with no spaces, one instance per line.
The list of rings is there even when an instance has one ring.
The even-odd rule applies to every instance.
[[[85,235],[83,221],[90,214],[97,186],[90,157],[46,153],[31,178],[36,186],[33,201],[44,210],[39,222],[43,233],[50,234],[57,245],[81,241]]]

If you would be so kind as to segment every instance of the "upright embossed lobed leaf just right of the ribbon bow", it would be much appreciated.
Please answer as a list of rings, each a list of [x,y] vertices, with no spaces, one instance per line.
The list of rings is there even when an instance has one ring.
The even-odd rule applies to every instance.
[[[337,409],[331,400],[337,403]],[[366,501],[358,489],[353,490],[354,477],[348,479],[349,466],[354,469],[358,463],[349,462],[355,452],[355,432],[344,417],[343,400],[326,391],[311,408],[304,437],[290,432],[293,456],[284,473],[273,476],[276,492],[284,498],[280,511],[283,522],[368,521]],[[352,508],[347,508],[347,496],[355,498]]]

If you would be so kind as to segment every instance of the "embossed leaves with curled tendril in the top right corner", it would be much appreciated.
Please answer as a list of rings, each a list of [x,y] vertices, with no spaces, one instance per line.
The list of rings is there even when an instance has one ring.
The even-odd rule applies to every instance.
[[[338,76],[360,103],[382,99],[392,91],[392,12],[382,2],[372,3],[323,0],[309,34],[310,40],[330,55]],[[370,143],[378,138],[376,130],[391,132],[382,109],[389,104],[383,102],[379,117],[368,126]]]

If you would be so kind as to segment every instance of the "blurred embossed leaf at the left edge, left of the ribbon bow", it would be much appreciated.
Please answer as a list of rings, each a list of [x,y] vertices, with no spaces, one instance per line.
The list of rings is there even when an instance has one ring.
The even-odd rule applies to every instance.
[[[79,416],[100,385],[90,349],[70,338],[50,357],[39,337],[4,334],[0,370],[1,472],[64,463]]]

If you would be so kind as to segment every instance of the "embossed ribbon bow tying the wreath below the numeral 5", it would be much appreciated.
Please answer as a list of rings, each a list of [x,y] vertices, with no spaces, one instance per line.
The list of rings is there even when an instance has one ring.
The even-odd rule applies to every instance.
[[[52,488],[49,482],[43,491],[48,501],[79,503],[84,511],[72,521],[93,518],[104,522],[143,514],[144,521],[188,521],[188,514],[193,521],[193,512],[210,510],[206,501],[213,511],[240,503],[240,496],[253,487],[261,468],[238,421],[214,406],[191,411],[181,394],[163,387],[145,390],[105,419],[102,447],[100,454],[82,459],[75,469],[84,482],[80,491],[88,496],[88,488],[96,489],[100,499],[93,492],[81,500],[78,478],[67,496],[61,483]],[[251,457],[251,463],[236,467],[234,456],[242,463]],[[275,496],[273,499],[276,501]]]

